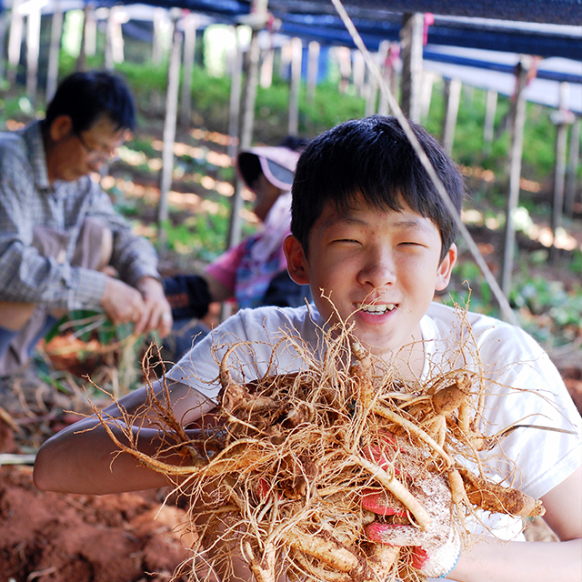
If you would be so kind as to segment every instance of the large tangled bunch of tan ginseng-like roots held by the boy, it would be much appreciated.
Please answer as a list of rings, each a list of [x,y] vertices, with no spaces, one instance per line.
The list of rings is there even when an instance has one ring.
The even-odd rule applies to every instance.
[[[416,498],[416,483],[431,475],[450,489],[445,502],[461,537],[467,517],[478,519],[477,509],[543,515],[536,499],[484,476],[479,453],[503,434],[478,429],[486,383],[477,373],[458,369],[428,385],[405,383],[376,365],[343,328],[326,336],[323,362],[295,337],[287,341],[304,350],[305,369],[280,375],[271,368],[244,385],[231,374],[240,346],[228,347],[220,363],[218,423],[195,439],[174,416],[162,374],[164,390],[155,393],[150,385],[147,404],[167,436],[156,457],[138,451],[135,419],[120,422],[95,411],[105,427],[125,426],[129,446],[109,430],[121,450],[176,477],[176,487],[190,497],[198,542],[184,568],[192,580],[231,579],[233,556],[246,561],[256,582],[281,575],[318,582],[425,579],[406,547],[368,540],[365,527],[378,517],[362,507],[362,495],[383,494],[403,507],[405,523],[426,529],[431,517]],[[184,457],[180,467],[164,460],[176,450]]]

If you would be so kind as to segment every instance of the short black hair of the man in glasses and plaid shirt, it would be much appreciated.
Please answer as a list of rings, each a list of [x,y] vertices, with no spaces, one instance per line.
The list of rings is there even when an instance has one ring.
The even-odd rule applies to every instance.
[[[65,77],[46,109],[45,128],[58,115],[69,115],[77,134],[90,129],[103,115],[117,130],[135,127],[135,105],[129,88],[120,77],[100,71]]]

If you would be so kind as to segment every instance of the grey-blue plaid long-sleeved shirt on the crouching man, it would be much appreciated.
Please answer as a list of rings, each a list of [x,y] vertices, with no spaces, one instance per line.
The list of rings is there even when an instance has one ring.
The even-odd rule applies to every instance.
[[[135,286],[144,276],[160,278],[154,247],[132,234],[89,176],[49,184],[40,122],[0,134],[0,300],[69,310],[99,306],[105,275],[70,265],[87,216],[100,218],[111,229],[111,264],[126,283]],[[64,263],[41,256],[32,246],[35,226],[68,236]]]

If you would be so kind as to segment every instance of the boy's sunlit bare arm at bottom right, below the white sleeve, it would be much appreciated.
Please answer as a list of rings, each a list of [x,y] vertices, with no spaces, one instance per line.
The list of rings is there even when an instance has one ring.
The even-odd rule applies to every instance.
[[[447,579],[458,582],[579,582],[582,579],[582,467],[542,497],[560,542],[482,540],[461,554]]]

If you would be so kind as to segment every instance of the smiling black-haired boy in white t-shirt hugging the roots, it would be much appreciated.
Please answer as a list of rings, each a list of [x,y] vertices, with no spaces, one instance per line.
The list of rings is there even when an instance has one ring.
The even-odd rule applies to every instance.
[[[460,210],[463,184],[457,169],[424,129],[413,128]],[[426,379],[433,369],[482,364],[493,380],[486,406],[487,434],[525,417],[528,424],[567,430],[579,426],[579,415],[556,368],[521,330],[468,314],[476,343],[471,353],[478,350],[480,361],[471,361],[470,354],[460,364],[450,361],[451,346],[459,343],[458,316],[447,306],[432,304],[432,299],[436,290],[447,286],[455,265],[456,226],[395,118],[375,115],[346,122],[306,147],[296,168],[291,232],[285,243],[287,268],[296,283],[311,286],[314,305],[242,310],[187,354],[169,374],[176,381],[171,386],[176,417],[185,425],[215,406],[216,361],[226,347],[215,359],[214,340],[221,346],[231,341],[254,343],[253,357],[243,349],[238,354],[238,371],[248,381],[265,374],[270,345],[284,331],[293,331],[322,356],[320,326],[341,319],[353,323],[359,342],[405,378]],[[472,338],[466,336],[465,342],[470,344]],[[278,373],[302,366],[300,356],[284,344],[276,349],[276,362]],[[196,392],[188,390],[188,383]],[[503,386],[522,390],[514,393]],[[536,391],[543,391],[544,397]],[[139,390],[121,403],[131,413],[144,399]],[[109,406],[108,412],[119,414],[116,406]],[[36,485],[93,494],[166,485],[164,477],[137,467],[126,455],[112,463],[115,446],[98,425],[95,418],[87,418],[47,441],[36,460]],[[79,432],[91,426],[96,428]],[[428,557],[447,555],[446,565],[431,576],[548,582],[559,572],[561,581],[580,579],[580,438],[536,429],[527,429],[525,437],[520,431],[503,441],[503,451],[517,461],[521,488],[543,500],[547,522],[562,542],[512,541],[500,546],[492,537],[480,537],[470,551],[461,552],[457,563],[457,548],[441,542]],[[140,437],[140,448],[153,453],[159,442],[156,426],[145,421]],[[490,469],[510,473],[502,463]],[[514,539],[521,529],[513,518],[496,523],[484,516],[484,520],[498,537]],[[390,543],[388,538],[384,541]],[[244,580],[252,579],[248,571],[237,572]]]

